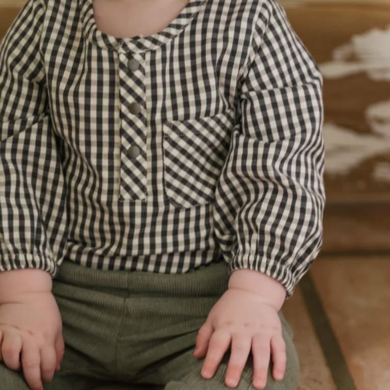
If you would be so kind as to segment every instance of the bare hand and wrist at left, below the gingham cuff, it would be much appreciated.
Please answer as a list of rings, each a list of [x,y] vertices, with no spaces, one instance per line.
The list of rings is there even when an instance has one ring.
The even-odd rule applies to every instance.
[[[0,360],[11,370],[23,368],[32,390],[43,390],[64,355],[61,315],[51,287],[45,271],[0,273]]]

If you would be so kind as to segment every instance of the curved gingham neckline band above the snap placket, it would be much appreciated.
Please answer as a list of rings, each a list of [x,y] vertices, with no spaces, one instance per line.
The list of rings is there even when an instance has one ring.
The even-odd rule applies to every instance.
[[[198,14],[207,0],[190,0],[180,14],[162,31],[148,37],[135,36],[132,38],[117,38],[107,35],[97,29],[93,12],[92,0],[77,0],[86,38],[101,48],[118,51],[120,47],[125,51],[141,53],[155,50],[178,35],[191,20]]]

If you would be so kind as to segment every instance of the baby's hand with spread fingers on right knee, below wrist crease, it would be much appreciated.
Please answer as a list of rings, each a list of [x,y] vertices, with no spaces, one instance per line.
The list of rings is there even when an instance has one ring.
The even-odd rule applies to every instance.
[[[273,376],[276,380],[283,379],[286,354],[280,319],[276,309],[262,296],[228,289],[214,305],[196,338],[194,357],[206,356],[203,378],[214,375],[229,347],[227,386],[237,386],[251,350],[254,387],[265,387],[271,353]]]

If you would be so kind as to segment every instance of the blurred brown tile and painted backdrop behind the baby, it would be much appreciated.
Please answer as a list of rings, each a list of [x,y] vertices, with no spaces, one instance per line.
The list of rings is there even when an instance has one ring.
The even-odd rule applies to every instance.
[[[299,390],[389,390],[390,0],[279,3],[324,77],[324,243],[282,308]],[[24,4],[0,0],[0,39]]]

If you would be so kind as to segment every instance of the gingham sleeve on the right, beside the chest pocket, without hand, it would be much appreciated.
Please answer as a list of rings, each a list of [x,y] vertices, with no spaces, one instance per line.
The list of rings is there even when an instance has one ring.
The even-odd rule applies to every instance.
[[[284,9],[266,0],[264,10],[218,181],[215,230],[231,272],[265,273],[288,299],[322,245],[323,79]]]

